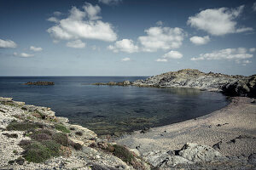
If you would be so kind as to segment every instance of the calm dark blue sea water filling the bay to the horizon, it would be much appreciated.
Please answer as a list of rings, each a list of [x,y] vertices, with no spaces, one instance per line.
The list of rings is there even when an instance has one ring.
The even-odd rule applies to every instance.
[[[52,108],[56,116],[98,134],[130,132],[181,122],[216,111],[229,102],[223,94],[189,88],[93,86],[93,82],[146,77],[0,77],[0,96]],[[21,83],[51,81],[54,86]]]

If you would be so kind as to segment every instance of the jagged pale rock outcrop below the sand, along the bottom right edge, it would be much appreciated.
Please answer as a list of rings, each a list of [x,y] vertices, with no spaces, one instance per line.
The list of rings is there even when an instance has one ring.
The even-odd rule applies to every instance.
[[[247,158],[223,156],[218,150],[203,144],[184,144],[181,150],[154,150],[143,159],[156,169],[254,169],[255,154]]]

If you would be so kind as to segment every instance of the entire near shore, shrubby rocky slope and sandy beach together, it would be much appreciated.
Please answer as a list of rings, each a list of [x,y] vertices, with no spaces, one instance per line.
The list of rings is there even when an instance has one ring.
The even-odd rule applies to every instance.
[[[210,115],[144,129],[110,143],[85,127],[69,124],[65,117],[56,117],[49,108],[0,97],[0,168],[255,169],[256,105],[251,100],[232,98],[230,105]],[[56,134],[63,135],[67,144],[56,140]],[[35,158],[44,152],[32,148],[34,155],[28,159],[31,150],[22,144],[46,147],[50,140],[61,141],[60,155],[38,162]]]

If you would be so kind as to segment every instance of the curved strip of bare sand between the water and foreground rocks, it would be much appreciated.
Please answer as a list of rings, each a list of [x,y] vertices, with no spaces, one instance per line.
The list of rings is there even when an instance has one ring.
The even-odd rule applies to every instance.
[[[180,150],[183,144],[212,146],[224,156],[256,153],[256,105],[253,99],[234,97],[219,111],[164,127],[137,131],[116,140],[141,155],[154,150]]]

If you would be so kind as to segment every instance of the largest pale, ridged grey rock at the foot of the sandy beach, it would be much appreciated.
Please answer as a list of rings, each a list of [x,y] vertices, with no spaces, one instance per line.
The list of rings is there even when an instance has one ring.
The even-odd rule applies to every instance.
[[[214,150],[210,146],[191,143],[184,144],[178,155],[194,162],[212,161],[223,157],[217,150]]]

